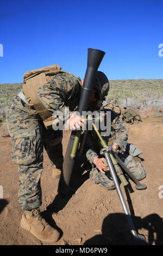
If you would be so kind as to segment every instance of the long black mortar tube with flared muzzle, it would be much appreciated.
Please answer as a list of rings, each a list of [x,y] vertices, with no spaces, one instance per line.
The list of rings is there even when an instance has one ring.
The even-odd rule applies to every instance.
[[[88,48],[87,68],[85,72],[84,83],[81,90],[79,105],[77,109],[80,115],[82,115],[83,111],[87,111],[89,108],[91,92],[95,86],[96,72],[98,70],[99,65],[102,62],[104,55],[105,55],[105,52],[103,51]],[[71,155],[71,151],[74,143],[75,134],[76,134],[76,131],[72,131],[70,136],[70,141],[66,149],[66,154],[65,154],[64,163],[63,163],[63,171],[61,173],[59,186],[58,186],[58,193],[60,194],[67,194],[69,191],[68,186],[70,184],[72,169],[74,165],[74,159],[70,155]],[[78,145],[76,148],[78,148]]]

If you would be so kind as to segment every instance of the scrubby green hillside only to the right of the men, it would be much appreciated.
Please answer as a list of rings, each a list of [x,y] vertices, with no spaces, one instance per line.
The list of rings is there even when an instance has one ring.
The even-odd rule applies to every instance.
[[[163,79],[112,80],[107,102],[120,107],[163,107]]]

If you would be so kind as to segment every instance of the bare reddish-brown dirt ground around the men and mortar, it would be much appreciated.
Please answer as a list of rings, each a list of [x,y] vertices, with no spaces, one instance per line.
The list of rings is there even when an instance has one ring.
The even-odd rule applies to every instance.
[[[128,125],[129,142],[143,150],[141,158],[147,177],[141,181],[146,190],[130,186],[124,198],[135,227],[145,235],[149,245],[163,245],[163,124],[139,123]],[[70,132],[64,133],[64,151]],[[41,245],[39,240],[20,227],[22,210],[17,202],[17,166],[11,161],[11,139],[0,137],[0,245]],[[52,226],[60,230],[61,239],[53,245],[126,245],[128,223],[116,190],[107,191],[89,179],[89,172],[76,169],[71,186],[76,194],[67,198],[57,195],[58,180],[52,178],[52,166],[45,153],[41,176],[41,211]],[[162,186],[162,187],[160,187]],[[160,198],[159,198],[160,196]],[[162,197],[162,198],[161,198]]]

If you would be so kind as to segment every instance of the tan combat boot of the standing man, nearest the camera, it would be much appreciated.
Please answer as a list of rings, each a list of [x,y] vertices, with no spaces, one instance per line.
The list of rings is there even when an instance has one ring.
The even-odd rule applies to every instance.
[[[39,209],[24,211],[21,227],[42,242],[54,243],[59,240],[59,231],[52,228],[40,215]]]

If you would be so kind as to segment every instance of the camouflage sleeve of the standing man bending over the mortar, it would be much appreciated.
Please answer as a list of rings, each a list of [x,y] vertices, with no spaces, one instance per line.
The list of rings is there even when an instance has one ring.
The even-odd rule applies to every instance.
[[[61,111],[65,119],[65,103],[79,91],[79,84],[73,76],[58,74],[37,90],[43,105],[51,112]],[[71,112],[70,112],[71,113]]]

